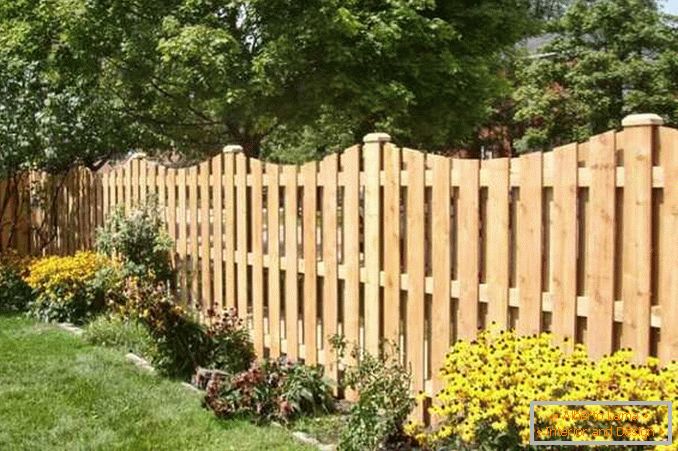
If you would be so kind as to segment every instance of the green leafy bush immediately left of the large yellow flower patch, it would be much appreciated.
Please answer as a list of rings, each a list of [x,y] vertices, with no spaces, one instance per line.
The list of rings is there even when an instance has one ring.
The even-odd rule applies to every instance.
[[[385,344],[380,357],[364,353],[346,371],[346,386],[359,393],[341,434],[339,449],[363,451],[407,448],[403,425],[414,407],[410,395],[411,373],[398,359],[397,350]],[[358,351],[354,350],[354,357]]]

